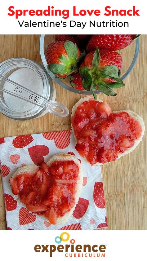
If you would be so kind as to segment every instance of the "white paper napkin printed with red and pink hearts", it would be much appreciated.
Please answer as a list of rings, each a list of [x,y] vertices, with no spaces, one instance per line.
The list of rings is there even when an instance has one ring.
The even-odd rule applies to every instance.
[[[75,150],[71,131],[57,131],[0,139],[0,169],[8,229],[99,229],[107,228],[100,166],[90,164]],[[57,153],[72,153],[82,164],[83,186],[76,209],[64,226],[51,225],[30,213],[14,199],[9,179],[25,165],[40,165]]]

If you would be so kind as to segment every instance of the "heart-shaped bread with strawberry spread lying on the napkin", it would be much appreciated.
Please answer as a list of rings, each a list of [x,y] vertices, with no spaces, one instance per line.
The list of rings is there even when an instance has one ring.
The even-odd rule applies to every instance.
[[[78,159],[60,153],[41,166],[23,166],[10,179],[16,199],[51,224],[64,224],[75,209],[82,188]]]

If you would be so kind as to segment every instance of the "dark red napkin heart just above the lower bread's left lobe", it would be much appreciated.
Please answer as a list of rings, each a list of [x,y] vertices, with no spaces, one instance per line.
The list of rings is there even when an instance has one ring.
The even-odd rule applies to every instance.
[[[39,166],[44,162],[44,157],[49,153],[49,148],[45,145],[35,145],[28,148],[31,160],[35,165]]]

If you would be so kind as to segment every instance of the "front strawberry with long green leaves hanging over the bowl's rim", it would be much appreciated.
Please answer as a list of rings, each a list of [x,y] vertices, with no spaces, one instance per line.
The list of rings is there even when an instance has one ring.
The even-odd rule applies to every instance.
[[[120,53],[100,50],[91,51],[82,62],[79,72],[82,78],[82,87],[91,91],[95,100],[94,90],[97,88],[106,95],[116,96],[111,88],[124,86],[120,79],[122,69],[122,56]]]

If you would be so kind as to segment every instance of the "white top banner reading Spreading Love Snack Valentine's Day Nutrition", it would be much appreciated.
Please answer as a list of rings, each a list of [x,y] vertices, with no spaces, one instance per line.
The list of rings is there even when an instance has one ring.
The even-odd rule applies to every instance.
[[[146,34],[147,3],[16,1],[1,3],[1,34]]]

